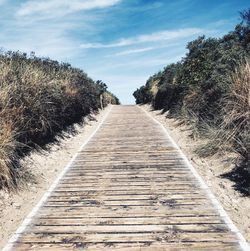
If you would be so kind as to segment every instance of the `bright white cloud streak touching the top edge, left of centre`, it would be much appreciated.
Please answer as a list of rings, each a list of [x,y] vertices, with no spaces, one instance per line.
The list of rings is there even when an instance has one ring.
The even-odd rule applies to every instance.
[[[1,0],[0,0],[1,1]],[[81,10],[105,8],[119,3],[121,0],[30,0],[23,3],[17,11],[18,16],[61,15]]]

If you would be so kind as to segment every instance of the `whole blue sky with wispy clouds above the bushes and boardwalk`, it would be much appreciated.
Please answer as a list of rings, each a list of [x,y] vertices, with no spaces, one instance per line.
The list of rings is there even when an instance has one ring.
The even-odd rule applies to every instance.
[[[35,51],[101,79],[123,104],[197,36],[220,37],[248,0],[0,0],[0,47]]]

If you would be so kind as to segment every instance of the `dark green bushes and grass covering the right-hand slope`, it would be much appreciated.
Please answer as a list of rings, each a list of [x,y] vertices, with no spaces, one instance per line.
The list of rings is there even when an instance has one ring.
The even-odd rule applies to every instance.
[[[250,194],[250,9],[240,15],[242,21],[222,38],[189,42],[186,56],[151,76],[134,97],[209,139],[199,155],[237,153],[235,175]]]

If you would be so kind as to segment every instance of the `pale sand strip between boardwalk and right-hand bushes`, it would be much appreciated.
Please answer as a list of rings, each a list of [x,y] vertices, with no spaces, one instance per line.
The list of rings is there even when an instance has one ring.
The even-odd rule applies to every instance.
[[[194,153],[194,150],[201,142],[193,140],[189,136],[190,130],[187,126],[180,126],[177,120],[166,118],[166,115],[161,114],[161,111],[152,111],[148,105],[144,105],[142,108],[150,111],[153,117],[168,129],[171,137],[186,154],[231,220],[250,243],[250,198],[237,192],[233,188],[232,181],[220,177],[221,174],[233,168],[232,160],[227,156],[200,158]]]

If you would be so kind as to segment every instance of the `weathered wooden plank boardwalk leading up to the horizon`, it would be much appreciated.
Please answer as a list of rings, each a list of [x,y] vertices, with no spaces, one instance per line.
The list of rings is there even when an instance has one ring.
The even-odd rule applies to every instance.
[[[179,150],[137,106],[112,108],[26,225],[6,250],[243,250]]]

